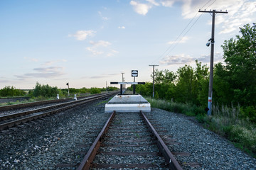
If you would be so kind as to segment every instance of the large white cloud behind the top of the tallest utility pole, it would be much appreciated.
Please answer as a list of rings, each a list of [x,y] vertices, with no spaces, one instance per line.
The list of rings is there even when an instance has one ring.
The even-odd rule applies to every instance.
[[[204,4],[206,4],[206,1],[204,0],[183,0],[183,18],[193,18],[198,12],[198,9],[200,9]],[[210,4],[212,5],[210,6]],[[208,8],[208,6],[210,7]],[[221,13],[215,17],[215,25],[221,25],[221,34],[231,33],[233,31],[238,32],[239,27],[242,27],[246,23],[252,23],[253,21],[255,21],[256,18],[255,16],[253,17],[253,15],[255,15],[256,13],[255,6],[255,1],[248,0],[210,1],[205,7],[201,8],[201,10],[206,9],[208,11],[210,9],[215,9],[217,11],[228,11],[227,14]],[[211,18],[209,18],[208,24],[211,25]]]

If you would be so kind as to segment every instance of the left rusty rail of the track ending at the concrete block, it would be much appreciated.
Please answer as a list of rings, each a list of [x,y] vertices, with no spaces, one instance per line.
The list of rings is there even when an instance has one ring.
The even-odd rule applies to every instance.
[[[95,158],[95,155],[97,153],[97,149],[99,149],[100,144],[102,142],[102,136],[105,135],[108,128],[110,127],[110,123],[113,120],[115,115],[115,111],[112,112],[110,115],[110,118],[108,118],[107,122],[105,123],[104,127],[100,131],[100,134],[97,136],[95,142],[93,142],[92,146],[90,147],[89,151],[85,155],[85,158],[82,159],[81,164],[78,166],[78,170],[85,170],[90,169],[90,166],[93,162],[93,159]]]

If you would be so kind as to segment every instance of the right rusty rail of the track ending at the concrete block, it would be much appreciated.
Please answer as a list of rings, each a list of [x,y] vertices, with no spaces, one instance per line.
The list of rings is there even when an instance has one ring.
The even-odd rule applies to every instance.
[[[142,113],[142,111],[140,112]],[[163,154],[164,159],[166,160],[166,164],[168,164],[169,166],[169,169],[181,170],[182,169],[181,165],[178,164],[177,160],[174,158],[174,155],[171,154],[171,151],[165,145],[164,141],[161,139],[161,137],[156,132],[154,127],[151,125],[149,120],[146,118],[146,115],[144,115],[144,113],[142,113],[142,118],[144,119],[144,121],[146,122],[146,125],[149,127],[149,129],[153,133],[154,137],[156,137],[156,140],[157,140],[156,145],[159,148],[161,154]]]

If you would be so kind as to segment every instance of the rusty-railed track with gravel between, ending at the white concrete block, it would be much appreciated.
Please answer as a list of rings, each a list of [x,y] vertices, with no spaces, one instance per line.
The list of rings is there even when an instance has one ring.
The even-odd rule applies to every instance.
[[[182,169],[144,113],[115,113],[78,169]]]

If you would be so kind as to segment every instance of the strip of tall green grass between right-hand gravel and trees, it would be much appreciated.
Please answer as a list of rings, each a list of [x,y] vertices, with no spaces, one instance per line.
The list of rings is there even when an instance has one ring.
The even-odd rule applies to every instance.
[[[213,106],[213,114],[206,115],[203,108],[189,103],[146,98],[151,107],[195,116],[203,127],[226,137],[235,147],[256,158],[256,125],[249,118],[240,118],[240,107]]]

